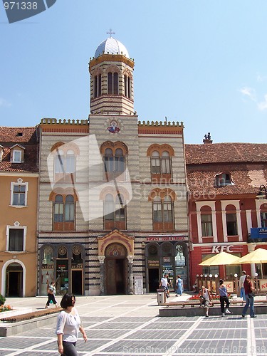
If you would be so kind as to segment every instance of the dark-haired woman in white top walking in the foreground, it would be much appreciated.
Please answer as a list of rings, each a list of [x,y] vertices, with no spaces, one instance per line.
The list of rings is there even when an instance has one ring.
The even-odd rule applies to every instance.
[[[83,334],[83,339],[86,342],[87,336],[85,330],[80,325],[80,316],[75,305],[75,296],[66,293],[61,300],[63,310],[58,314],[56,325],[56,334],[58,335],[58,352],[66,356],[78,356],[76,350],[76,342],[78,340],[78,332]]]

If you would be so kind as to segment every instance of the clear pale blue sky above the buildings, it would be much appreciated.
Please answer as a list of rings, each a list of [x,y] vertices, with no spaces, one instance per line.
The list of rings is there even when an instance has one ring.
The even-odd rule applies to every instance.
[[[0,125],[86,119],[110,28],[135,59],[139,120],[183,121],[186,143],[266,142],[266,0],[57,0],[11,24],[0,3]]]

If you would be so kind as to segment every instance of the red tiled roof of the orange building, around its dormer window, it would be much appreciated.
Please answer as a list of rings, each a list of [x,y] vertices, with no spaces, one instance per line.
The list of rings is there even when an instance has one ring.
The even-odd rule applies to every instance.
[[[38,172],[38,132],[36,130],[36,127],[0,127],[0,145],[4,147],[0,171]],[[25,147],[23,163],[10,162],[10,148],[16,143]]]

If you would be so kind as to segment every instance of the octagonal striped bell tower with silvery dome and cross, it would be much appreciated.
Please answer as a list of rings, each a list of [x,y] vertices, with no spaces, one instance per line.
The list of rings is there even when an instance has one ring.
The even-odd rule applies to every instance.
[[[90,58],[90,114],[134,115],[133,68],[135,63],[120,41],[110,37]]]

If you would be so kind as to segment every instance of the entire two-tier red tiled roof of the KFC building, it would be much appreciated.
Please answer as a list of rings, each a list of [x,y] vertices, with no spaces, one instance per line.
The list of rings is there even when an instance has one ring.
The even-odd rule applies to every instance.
[[[218,143],[185,145],[187,183],[194,199],[218,195],[257,194],[267,182],[267,144]],[[233,184],[215,186],[216,174],[227,173]]]

